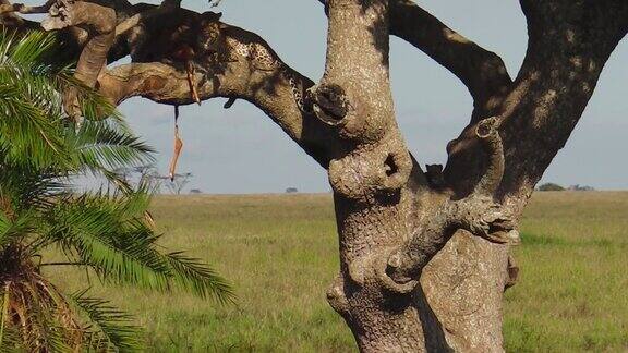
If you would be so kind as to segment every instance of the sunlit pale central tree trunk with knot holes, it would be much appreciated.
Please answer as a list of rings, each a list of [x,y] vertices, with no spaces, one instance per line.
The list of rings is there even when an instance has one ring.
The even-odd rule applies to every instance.
[[[416,281],[421,267],[451,235],[444,234],[451,231],[443,224],[430,224],[449,193],[428,187],[394,119],[387,1],[335,0],[328,5],[327,66],[315,93],[342,87],[337,100],[353,108],[334,121],[348,151],[329,168],[341,273],[328,300],[364,352],[498,350],[505,246],[460,233]],[[425,231],[432,227],[436,234]],[[436,236],[432,243],[430,235]],[[411,266],[410,276],[392,280],[391,255],[413,238],[421,264]]]

